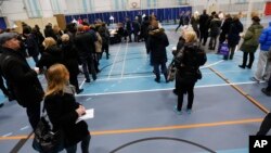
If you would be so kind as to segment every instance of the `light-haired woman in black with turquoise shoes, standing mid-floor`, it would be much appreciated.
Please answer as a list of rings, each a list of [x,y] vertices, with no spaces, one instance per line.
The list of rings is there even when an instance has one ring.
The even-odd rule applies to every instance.
[[[194,101],[194,86],[199,79],[198,71],[199,64],[197,61],[197,51],[199,42],[197,42],[196,33],[188,30],[183,36],[185,42],[179,49],[178,55],[175,58],[175,65],[177,67],[176,74],[176,89],[173,92],[178,95],[178,104],[175,106],[177,114],[181,115],[183,95],[188,93],[186,112],[190,114]]]

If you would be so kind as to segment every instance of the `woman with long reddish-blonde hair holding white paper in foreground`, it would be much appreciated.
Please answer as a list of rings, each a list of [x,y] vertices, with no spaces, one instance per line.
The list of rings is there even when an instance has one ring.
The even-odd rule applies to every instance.
[[[68,84],[69,73],[63,64],[54,64],[47,71],[48,87],[44,107],[53,126],[53,132],[63,131],[63,146],[67,153],[76,153],[81,141],[82,153],[89,153],[90,133],[86,122],[77,123],[86,109],[76,102],[74,88]]]

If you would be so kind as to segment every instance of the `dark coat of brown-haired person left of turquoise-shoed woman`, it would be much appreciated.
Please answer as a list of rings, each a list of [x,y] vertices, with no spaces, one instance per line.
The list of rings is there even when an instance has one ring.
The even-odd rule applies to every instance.
[[[163,28],[153,29],[149,33],[149,48],[151,50],[151,64],[167,62],[166,47],[169,44],[167,35]]]

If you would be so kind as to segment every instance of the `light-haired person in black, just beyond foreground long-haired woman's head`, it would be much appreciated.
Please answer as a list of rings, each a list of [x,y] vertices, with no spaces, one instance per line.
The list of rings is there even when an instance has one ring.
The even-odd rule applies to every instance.
[[[78,51],[76,47],[69,41],[67,34],[62,35],[62,51],[63,51],[63,64],[69,72],[69,82],[75,86],[76,93],[80,93],[83,89],[79,89],[77,75],[79,74],[78,68]]]

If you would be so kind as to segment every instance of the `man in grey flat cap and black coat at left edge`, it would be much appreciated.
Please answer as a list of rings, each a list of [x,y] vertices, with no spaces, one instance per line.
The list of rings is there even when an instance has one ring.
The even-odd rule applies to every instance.
[[[40,102],[43,89],[39,82],[39,71],[34,71],[20,52],[21,42],[15,33],[0,35],[2,54],[0,59],[1,72],[11,86],[18,104],[26,107],[26,113],[35,130],[40,119]]]

